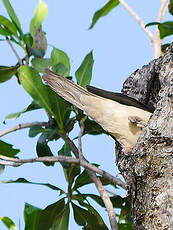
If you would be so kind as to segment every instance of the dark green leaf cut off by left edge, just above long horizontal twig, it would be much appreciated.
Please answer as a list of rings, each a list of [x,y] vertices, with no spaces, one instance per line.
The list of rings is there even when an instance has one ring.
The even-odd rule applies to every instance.
[[[19,153],[19,149],[13,149],[13,145],[0,140],[0,154],[7,157],[14,157]]]

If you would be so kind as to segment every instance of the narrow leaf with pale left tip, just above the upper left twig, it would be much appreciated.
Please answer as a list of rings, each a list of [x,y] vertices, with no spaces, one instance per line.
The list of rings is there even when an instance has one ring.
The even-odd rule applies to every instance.
[[[36,109],[40,109],[40,108],[41,107],[35,101],[33,101],[30,105],[28,105],[22,111],[17,112],[17,113],[10,113],[9,115],[7,115],[5,117],[5,120],[16,119],[16,118],[20,117],[23,113],[30,112],[30,111],[33,111],[33,110],[36,110]]]

